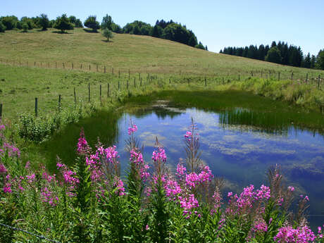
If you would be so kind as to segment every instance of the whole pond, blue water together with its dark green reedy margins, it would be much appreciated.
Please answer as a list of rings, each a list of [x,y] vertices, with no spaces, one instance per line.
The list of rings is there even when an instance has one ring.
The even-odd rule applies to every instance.
[[[120,112],[100,113],[97,118],[71,125],[68,131],[73,132],[73,136],[63,131],[54,141],[66,147],[73,144],[74,139],[75,144],[80,127],[85,127],[90,144],[93,145],[97,137],[107,145],[116,144],[125,175],[128,154],[124,147],[132,120],[138,126],[135,136],[144,145],[146,161],[151,161],[157,137],[166,149],[170,170],[175,171],[179,159],[185,158],[184,135],[193,119],[199,129],[201,159],[214,175],[225,179],[225,193],[240,192],[250,184],[259,187],[267,183],[268,168],[278,164],[287,185],[294,186],[296,194],[309,196],[312,225],[323,224],[323,115],[302,112],[251,94],[225,92],[208,96],[205,92],[200,98],[196,94],[190,101],[183,102],[189,95],[156,94],[154,99],[135,98]],[[56,153],[63,162],[69,159],[59,151]],[[71,151],[66,153],[71,154]]]

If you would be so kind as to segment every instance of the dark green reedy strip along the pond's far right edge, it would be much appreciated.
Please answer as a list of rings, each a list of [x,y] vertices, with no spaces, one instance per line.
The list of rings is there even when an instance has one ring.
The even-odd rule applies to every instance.
[[[151,98],[139,96],[133,100],[139,104],[148,104],[154,99],[168,99],[175,106],[219,112],[220,123],[225,125],[253,125],[263,132],[284,135],[289,127],[324,133],[324,118],[320,113],[303,112],[300,107],[248,92],[168,91],[156,93]]]

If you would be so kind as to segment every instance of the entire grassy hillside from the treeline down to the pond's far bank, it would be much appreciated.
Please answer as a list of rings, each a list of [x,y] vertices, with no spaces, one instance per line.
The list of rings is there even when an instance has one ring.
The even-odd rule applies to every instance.
[[[316,80],[318,75],[323,79],[323,71],[215,54],[166,39],[115,34],[112,42],[106,42],[101,33],[82,29],[69,31],[68,34],[58,34],[54,30],[32,30],[28,33],[8,31],[0,34],[0,46],[0,103],[4,104],[3,113],[6,118],[17,117],[22,112],[34,112],[35,97],[39,101],[40,115],[57,109],[59,94],[63,107],[74,104],[74,88],[77,101],[87,103],[89,84],[92,103],[100,104],[101,85],[104,104],[112,104],[120,97],[128,96],[128,70],[132,94],[149,94],[152,90],[161,88],[234,88],[317,110],[324,106],[323,91],[318,90]],[[62,63],[65,63],[65,69]],[[71,70],[72,63],[74,70]],[[98,71],[96,65],[99,66]],[[112,68],[114,75],[111,74]],[[251,71],[254,77],[249,80]],[[290,79],[291,72],[294,72],[294,81],[267,81],[270,73],[272,81],[278,80],[279,72],[280,80]],[[139,87],[139,73],[143,79],[142,87]],[[157,79],[147,82],[147,73],[156,73]],[[304,81],[307,73],[311,85],[301,87],[299,83]],[[261,75],[263,79],[258,79]],[[207,77],[206,86],[204,77]],[[136,89],[134,78],[137,82]],[[169,78],[172,80],[171,85]],[[239,78],[241,82],[235,85],[233,81],[238,81]],[[248,82],[242,82],[243,80]],[[109,98],[106,96],[108,83]],[[225,87],[219,87],[224,84]]]

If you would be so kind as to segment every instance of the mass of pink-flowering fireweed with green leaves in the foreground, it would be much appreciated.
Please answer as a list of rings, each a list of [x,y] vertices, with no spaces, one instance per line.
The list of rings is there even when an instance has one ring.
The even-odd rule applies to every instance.
[[[156,139],[152,163],[130,123],[127,177],[120,177],[116,147],[95,150],[81,131],[77,161],[68,168],[58,158],[58,173],[22,163],[20,150],[0,125],[0,223],[59,242],[324,242],[323,231],[309,228],[304,216],[309,198],[299,196],[289,211],[294,187],[285,187],[278,166],[268,185],[249,185],[240,194],[221,191],[222,180],[200,160],[197,125],[184,135],[185,162],[175,173]],[[0,242],[41,242],[0,225]]]

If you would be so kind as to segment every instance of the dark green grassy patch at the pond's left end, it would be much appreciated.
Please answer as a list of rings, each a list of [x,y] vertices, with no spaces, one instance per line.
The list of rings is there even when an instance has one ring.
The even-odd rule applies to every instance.
[[[85,137],[92,148],[100,142],[105,146],[111,146],[118,140],[118,119],[121,113],[98,112],[91,118],[80,120],[77,124],[70,124],[65,129],[56,133],[51,139],[43,142],[39,151],[46,158],[47,168],[56,168],[56,156],[63,163],[71,165],[76,158],[77,139],[80,137],[81,127],[85,130]]]

